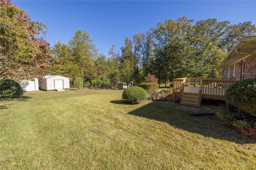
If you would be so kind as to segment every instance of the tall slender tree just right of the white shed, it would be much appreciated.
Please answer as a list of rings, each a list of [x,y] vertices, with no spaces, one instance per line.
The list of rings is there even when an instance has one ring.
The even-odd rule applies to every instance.
[[[84,79],[93,79],[96,76],[92,58],[96,57],[97,50],[92,42],[93,40],[90,39],[89,34],[81,30],[77,30],[74,37],[69,41],[69,45],[73,51],[74,61],[80,70],[77,76],[81,78],[82,87]]]

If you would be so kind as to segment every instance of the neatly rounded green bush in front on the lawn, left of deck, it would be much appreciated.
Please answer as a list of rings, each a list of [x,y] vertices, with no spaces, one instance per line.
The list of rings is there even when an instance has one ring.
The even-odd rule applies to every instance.
[[[123,99],[132,103],[138,103],[139,101],[147,99],[147,93],[141,87],[133,86],[128,87],[123,92]]]

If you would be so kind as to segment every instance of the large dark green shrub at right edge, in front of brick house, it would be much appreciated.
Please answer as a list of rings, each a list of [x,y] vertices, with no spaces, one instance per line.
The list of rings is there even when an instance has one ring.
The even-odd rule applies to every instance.
[[[225,100],[256,116],[256,79],[246,79],[232,84],[225,92]]]

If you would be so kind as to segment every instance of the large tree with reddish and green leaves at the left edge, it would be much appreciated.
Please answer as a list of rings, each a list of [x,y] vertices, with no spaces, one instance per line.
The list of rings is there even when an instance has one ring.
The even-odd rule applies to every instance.
[[[50,43],[40,33],[46,26],[32,21],[26,11],[10,0],[0,0],[0,81],[32,79],[47,74]]]

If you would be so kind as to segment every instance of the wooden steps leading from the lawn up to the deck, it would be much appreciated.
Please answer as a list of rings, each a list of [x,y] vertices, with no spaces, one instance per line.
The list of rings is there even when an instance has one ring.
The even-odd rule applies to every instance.
[[[185,93],[180,100],[181,105],[200,107],[199,94],[197,93]]]

